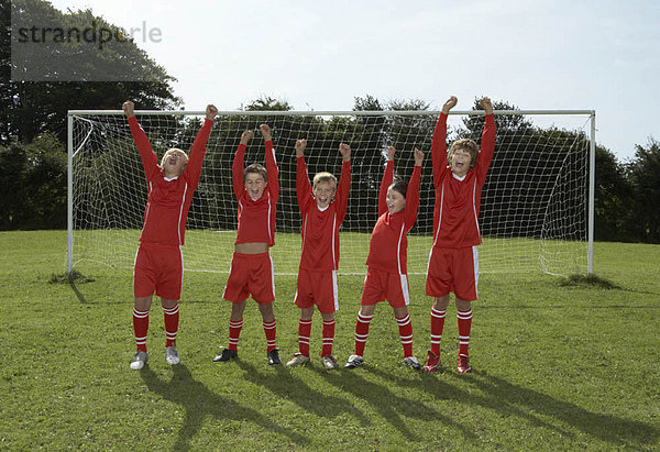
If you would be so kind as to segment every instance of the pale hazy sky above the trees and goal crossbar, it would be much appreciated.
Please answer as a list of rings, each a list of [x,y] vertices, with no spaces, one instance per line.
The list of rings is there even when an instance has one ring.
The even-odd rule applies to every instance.
[[[345,111],[366,95],[432,110],[457,96],[455,109],[470,110],[488,96],[521,110],[595,110],[596,141],[620,162],[660,140],[657,0],[51,3],[133,29],[177,78],[187,110],[268,96],[295,110]]]

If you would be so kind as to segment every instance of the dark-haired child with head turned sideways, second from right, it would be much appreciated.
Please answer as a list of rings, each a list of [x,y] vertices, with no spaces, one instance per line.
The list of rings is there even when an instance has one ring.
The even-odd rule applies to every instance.
[[[419,206],[419,180],[424,153],[415,148],[415,167],[410,183],[394,179],[393,146],[387,148],[387,166],[383,174],[378,194],[378,221],[372,232],[369,246],[366,278],[362,289],[362,300],[355,324],[355,353],[344,365],[354,368],[364,364],[364,346],[369,337],[369,326],[376,304],[389,302],[398,323],[399,339],[404,348],[404,364],[416,371],[421,367],[413,355],[413,323],[408,315],[408,231],[417,221]]]

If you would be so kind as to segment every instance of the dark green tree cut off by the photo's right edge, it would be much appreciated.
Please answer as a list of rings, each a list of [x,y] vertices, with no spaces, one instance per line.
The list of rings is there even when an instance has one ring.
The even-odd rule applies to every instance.
[[[650,137],[636,148],[627,165],[635,196],[630,230],[641,242],[660,243],[660,143]]]

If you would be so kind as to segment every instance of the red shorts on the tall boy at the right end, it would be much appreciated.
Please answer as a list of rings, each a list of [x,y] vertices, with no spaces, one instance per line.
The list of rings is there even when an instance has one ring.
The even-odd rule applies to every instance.
[[[476,300],[479,253],[476,246],[441,249],[433,246],[427,268],[427,295],[444,297],[453,291],[464,301]]]

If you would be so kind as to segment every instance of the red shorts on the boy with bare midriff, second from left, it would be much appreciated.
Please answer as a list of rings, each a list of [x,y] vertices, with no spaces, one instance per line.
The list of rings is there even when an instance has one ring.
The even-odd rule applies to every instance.
[[[250,295],[261,305],[275,301],[273,261],[268,253],[233,254],[222,298],[231,302],[241,302]]]

